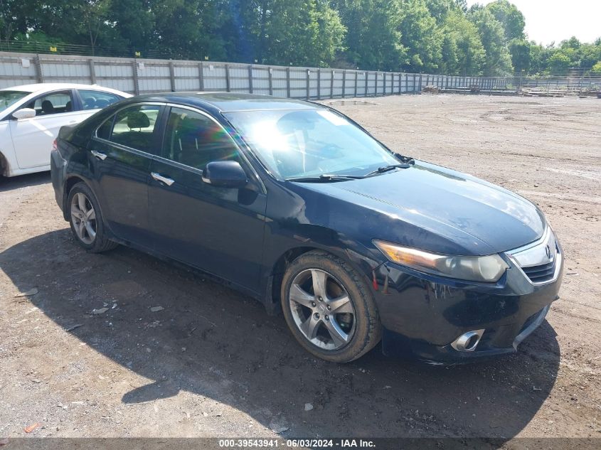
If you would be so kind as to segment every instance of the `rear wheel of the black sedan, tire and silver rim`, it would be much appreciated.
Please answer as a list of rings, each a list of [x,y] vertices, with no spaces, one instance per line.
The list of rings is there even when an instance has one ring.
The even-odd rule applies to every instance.
[[[85,183],[77,183],[71,188],[67,208],[71,232],[85,250],[101,253],[117,247],[117,242],[107,238],[98,200]]]

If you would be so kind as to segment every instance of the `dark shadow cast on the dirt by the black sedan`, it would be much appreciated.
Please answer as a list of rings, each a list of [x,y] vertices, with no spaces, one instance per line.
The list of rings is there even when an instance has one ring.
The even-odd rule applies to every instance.
[[[353,363],[326,363],[294,342],[281,316],[267,316],[243,294],[124,247],[87,253],[68,229],[9,247],[0,269],[20,291],[36,287],[28,301],[64,333],[152,380],[123,403],[187,390],[282,436],[509,439],[536,414],[558,373],[560,350],[546,322],[520,353],[497,360],[429,366],[376,348]]]

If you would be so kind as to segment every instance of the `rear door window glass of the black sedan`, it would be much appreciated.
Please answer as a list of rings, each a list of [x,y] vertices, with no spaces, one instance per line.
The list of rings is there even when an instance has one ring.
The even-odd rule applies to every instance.
[[[97,131],[97,136],[132,149],[152,153],[152,134],[159,117],[159,105],[136,105],[117,112],[107,119]],[[112,132],[107,130],[112,125]]]

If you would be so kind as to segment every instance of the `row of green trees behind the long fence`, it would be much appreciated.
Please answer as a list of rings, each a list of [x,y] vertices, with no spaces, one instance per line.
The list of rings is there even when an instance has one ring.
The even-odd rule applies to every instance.
[[[32,45],[448,75],[599,72],[601,38],[542,46],[524,26],[507,0],[0,0],[0,41]]]

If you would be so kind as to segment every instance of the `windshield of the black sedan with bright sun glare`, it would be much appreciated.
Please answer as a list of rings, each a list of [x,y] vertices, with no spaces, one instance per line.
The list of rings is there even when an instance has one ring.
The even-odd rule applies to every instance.
[[[240,111],[225,117],[281,178],[365,175],[398,164],[375,139],[327,109]]]

